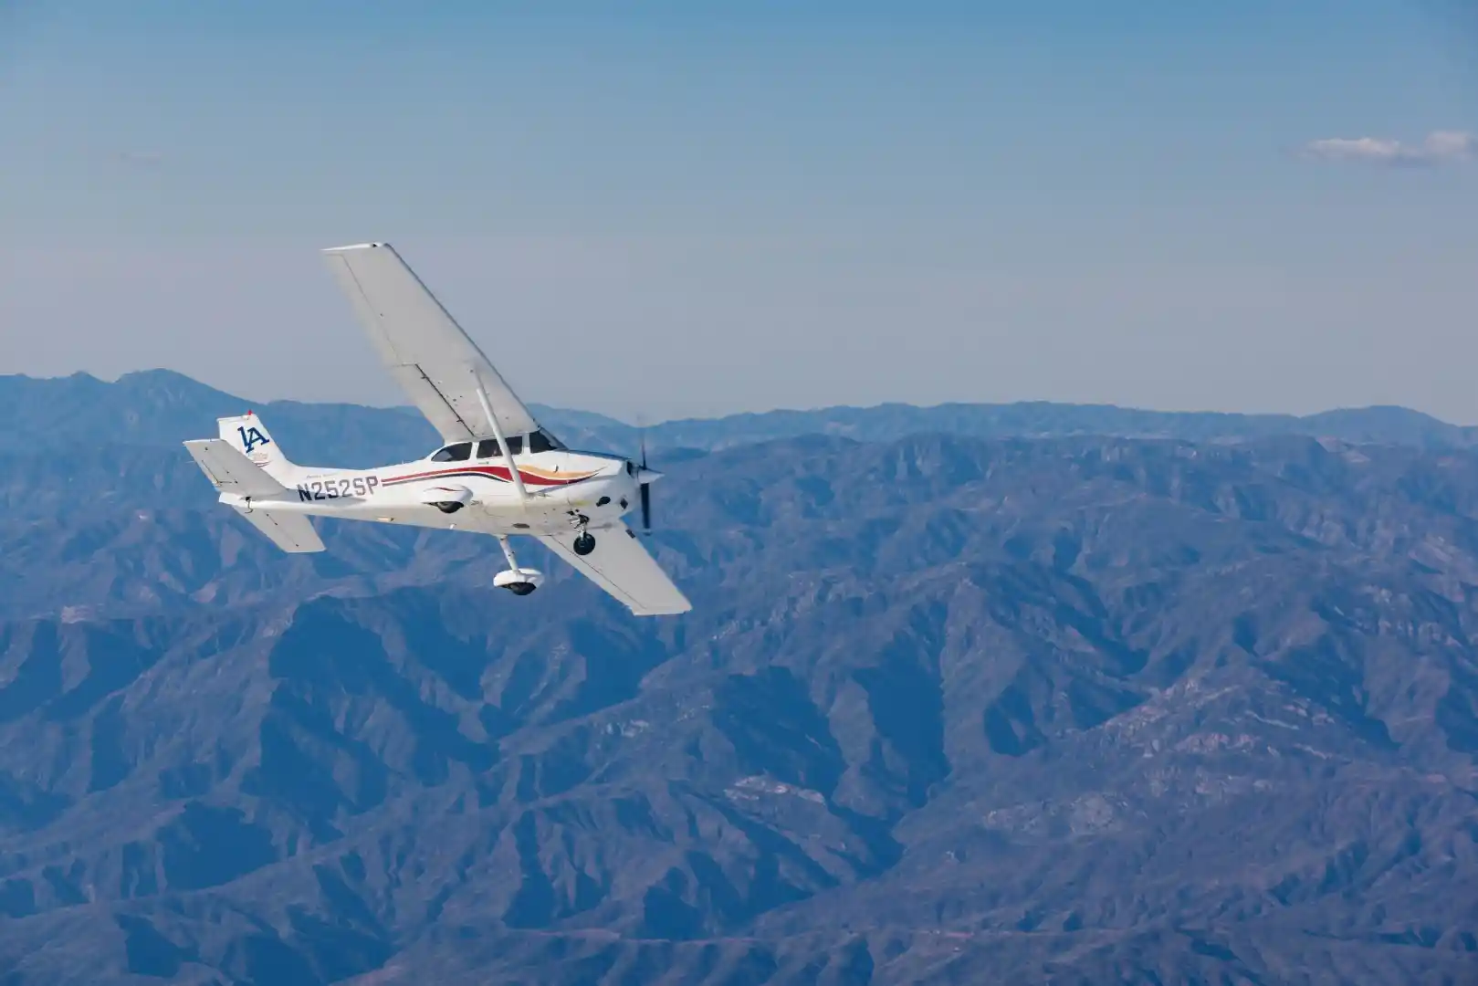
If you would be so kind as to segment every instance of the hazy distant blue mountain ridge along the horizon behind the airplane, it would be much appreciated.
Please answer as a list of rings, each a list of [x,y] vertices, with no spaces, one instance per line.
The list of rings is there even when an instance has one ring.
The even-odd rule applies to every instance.
[[[74,408],[78,398],[102,407],[95,407],[84,415],[56,412],[58,408]],[[599,449],[630,452],[637,443],[638,429],[612,417],[542,404],[531,407],[572,446],[584,442]],[[38,414],[35,408],[46,408],[46,412]],[[414,408],[300,401],[253,402],[174,371],[149,370],[124,374],[115,383],[89,374],[53,378],[0,377],[0,414],[15,421],[12,433],[0,436],[0,451],[24,448],[27,441],[37,438],[90,443],[170,445],[200,438],[210,432],[216,417],[239,414],[247,408],[259,409],[273,433],[281,430],[287,436],[290,446],[306,446],[304,455],[319,458],[347,455],[350,460],[347,464],[389,461],[383,458],[386,455],[415,458],[437,445],[437,436]],[[328,427],[337,432],[325,430]],[[803,435],[890,441],[922,432],[975,438],[1113,435],[1197,442],[1305,435],[1428,449],[1478,445],[1478,427],[1448,424],[1420,411],[1391,405],[1341,408],[1299,417],[1142,411],[1116,405],[1045,401],[955,402],[933,407],[879,404],[868,408],[776,409],[718,418],[677,418],[650,424],[644,430],[655,449],[704,451]],[[370,436],[384,443],[378,451],[380,460],[365,460],[374,454],[368,448]]]

